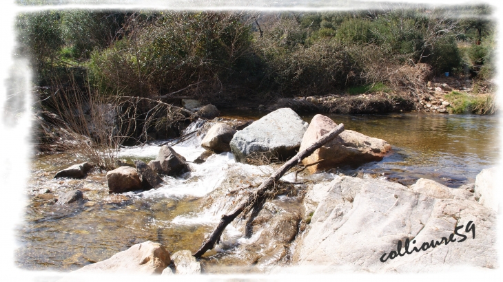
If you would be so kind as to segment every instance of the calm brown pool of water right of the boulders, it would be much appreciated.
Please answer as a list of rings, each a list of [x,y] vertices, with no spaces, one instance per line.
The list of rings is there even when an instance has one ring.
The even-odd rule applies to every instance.
[[[229,117],[258,119],[266,112],[229,111]],[[301,116],[311,122],[314,115]],[[475,182],[482,169],[500,159],[497,116],[439,113],[393,113],[386,115],[327,115],[345,129],[386,140],[392,152],[380,162],[340,166],[346,175],[384,175],[402,184],[429,178],[446,186]]]

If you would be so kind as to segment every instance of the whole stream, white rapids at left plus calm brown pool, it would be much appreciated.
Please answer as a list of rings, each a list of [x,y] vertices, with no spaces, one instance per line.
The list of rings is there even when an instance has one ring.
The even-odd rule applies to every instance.
[[[264,114],[234,111],[225,116],[257,119]],[[495,116],[404,113],[330,117],[344,123],[346,129],[387,140],[393,149],[380,162],[341,166],[333,169],[333,174],[313,178],[319,181],[344,173],[385,177],[403,184],[426,177],[457,187],[474,182],[475,175],[494,166],[499,158]],[[309,122],[312,116],[302,118]],[[121,158],[153,160],[158,144],[122,149]],[[196,138],[174,149],[189,161],[204,151]],[[67,154],[34,156],[32,177],[26,188],[25,217],[17,233],[19,267],[76,270],[147,240],[161,243],[172,253],[194,251],[221,214],[221,210],[204,206],[203,196],[225,186],[233,177],[229,171],[238,170],[253,177],[270,169],[236,163],[231,153],[222,153],[212,155],[203,164],[191,164],[192,172],[181,177],[163,177],[165,183],[156,190],[109,195],[104,173],[93,173],[84,180],[52,179],[57,171],[76,162],[80,160]],[[37,196],[43,188],[52,193]],[[85,201],[54,204],[57,195],[76,188],[83,191]],[[243,241],[243,234],[232,226],[225,232],[226,238]],[[213,259],[207,264],[242,263],[239,259],[218,259],[223,252],[218,248],[208,252],[207,257]],[[207,270],[212,272],[211,267],[207,266]]]

